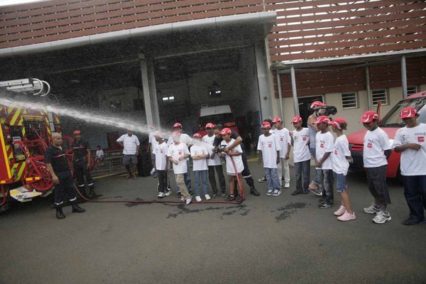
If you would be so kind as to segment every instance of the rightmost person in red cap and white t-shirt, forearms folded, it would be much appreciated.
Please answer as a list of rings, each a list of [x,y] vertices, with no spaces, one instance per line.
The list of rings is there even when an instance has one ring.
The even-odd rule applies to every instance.
[[[420,124],[414,107],[405,107],[399,118],[405,127],[398,129],[392,148],[401,153],[400,169],[404,182],[404,197],[410,217],[404,225],[425,223],[426,209],[426,124]]]

